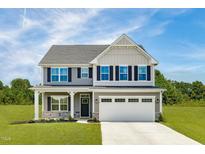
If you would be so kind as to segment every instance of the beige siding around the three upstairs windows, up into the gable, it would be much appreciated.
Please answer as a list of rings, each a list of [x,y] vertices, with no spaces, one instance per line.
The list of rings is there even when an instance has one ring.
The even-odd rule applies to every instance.
[[[113,81],[97,81],[97,65],[113,66]],[[127,65],[132,66],[131,81],[116,81],[115,66]],[[150,81],[135,81],[134,66],[149,65],[150,66]],[[151,59],[146,57],[136,47],[111,47],[111,49],[98,59],[98,63],[93,66],[93,85],[94,86],[154,86],[154,66],[151,65]]]

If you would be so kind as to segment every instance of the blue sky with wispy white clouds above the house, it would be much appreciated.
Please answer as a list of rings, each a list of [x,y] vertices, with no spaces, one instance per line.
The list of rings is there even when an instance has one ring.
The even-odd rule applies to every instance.
[[[0,9],[0,80],[40,82],[52,44],[109,44],[126,33],[168,79],[205,83],[205,9]]]

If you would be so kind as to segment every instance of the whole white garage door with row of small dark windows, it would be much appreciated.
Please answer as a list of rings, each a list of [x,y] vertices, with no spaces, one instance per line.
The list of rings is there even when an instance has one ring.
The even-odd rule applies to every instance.
[[[155,96],[100,96],[100,121],[155,121]]]

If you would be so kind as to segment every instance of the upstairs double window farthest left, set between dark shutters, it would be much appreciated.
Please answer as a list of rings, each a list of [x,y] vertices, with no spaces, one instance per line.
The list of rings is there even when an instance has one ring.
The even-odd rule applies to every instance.
[[[52,82],[68,81],[68,68],[51,68]]]

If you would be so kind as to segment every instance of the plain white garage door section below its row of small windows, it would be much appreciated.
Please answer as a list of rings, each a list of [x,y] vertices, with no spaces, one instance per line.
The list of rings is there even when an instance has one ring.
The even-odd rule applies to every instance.
[[[103,102],[99,106],[100,121],[154,121],[153,102]]]

